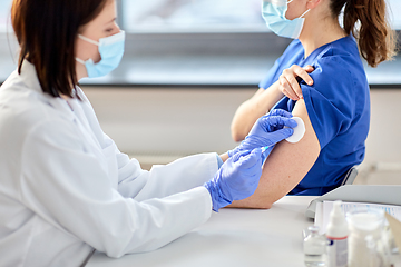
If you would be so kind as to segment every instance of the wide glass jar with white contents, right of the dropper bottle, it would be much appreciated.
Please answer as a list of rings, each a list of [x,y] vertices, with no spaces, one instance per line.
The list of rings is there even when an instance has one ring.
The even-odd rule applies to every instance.
[[[350,225],[349,267],[390,267],[389,235],[382,209],[356,209],[346,214]]]

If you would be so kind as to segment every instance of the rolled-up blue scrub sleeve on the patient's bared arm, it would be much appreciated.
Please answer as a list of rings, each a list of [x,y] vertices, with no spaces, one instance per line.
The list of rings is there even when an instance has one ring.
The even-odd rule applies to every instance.
[[[307,115],[321,149],[352,123],[353,81],[344,66],[332,59],[322,59],[311,73],[314,85],[310,87],[301,82]]]

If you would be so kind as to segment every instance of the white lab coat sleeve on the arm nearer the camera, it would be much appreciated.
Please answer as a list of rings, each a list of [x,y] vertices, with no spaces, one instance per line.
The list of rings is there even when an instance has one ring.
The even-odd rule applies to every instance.
[[[37,126],[23,144],[20,201],[40,219],[110,257],[149,251],[204,224],[204,187],[139,202],[111,187],[99,160],[63,121]]]

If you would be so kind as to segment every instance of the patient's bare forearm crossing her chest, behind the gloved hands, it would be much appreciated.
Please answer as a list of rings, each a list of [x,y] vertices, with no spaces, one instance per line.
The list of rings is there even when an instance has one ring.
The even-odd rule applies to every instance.
[[[278,83],[273,83],[268,89],[260,89],[251,99],[243,102],[236,110],[232,125],[232,137],[235,141],[243,140],[252,129],[255,121],[265,115],[281,98]]]

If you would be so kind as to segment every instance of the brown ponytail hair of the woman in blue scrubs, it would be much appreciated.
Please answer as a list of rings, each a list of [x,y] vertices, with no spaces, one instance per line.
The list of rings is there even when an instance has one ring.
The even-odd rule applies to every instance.
[[[344,8],[343,28],[356,38],[361,56],[371,67],[392,59],[395,39],[387,20],[385,0],[331,0],[330,8],[334,18]]]

